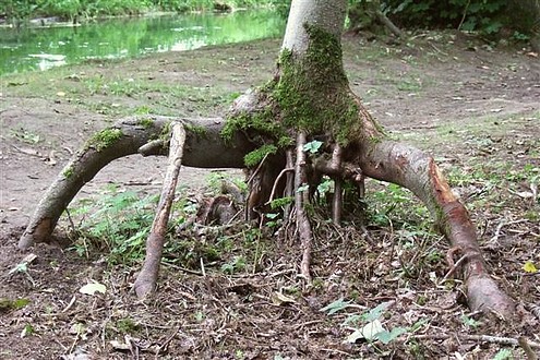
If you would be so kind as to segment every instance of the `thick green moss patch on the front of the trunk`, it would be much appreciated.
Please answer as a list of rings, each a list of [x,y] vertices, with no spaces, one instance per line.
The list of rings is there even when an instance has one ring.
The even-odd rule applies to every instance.
[[[285,127],[329,134],[347,145],[361,124],[343,68],[339,39],[313,25],[305,25],[305,31],[310,44],[303,57],[288,49],[281,51],[280,79],[273,97]]]

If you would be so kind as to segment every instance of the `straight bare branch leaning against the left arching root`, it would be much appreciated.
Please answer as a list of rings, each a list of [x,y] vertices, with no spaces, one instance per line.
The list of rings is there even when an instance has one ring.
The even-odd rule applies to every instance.
[[[143,268],[133,286],[139,298],[154,291],[159,273],[159,263],[167,233],[167,224],[169,223],[170,208],[175,200],[177,189],[178,173],[182,165],[183,147],[185,144],[185,129],[183,124],[176,122],[171,125],[169,165],[165,173],[161,195],[156,209],[156,216],[152,224],[152,229],[146,239],[146,257]]]

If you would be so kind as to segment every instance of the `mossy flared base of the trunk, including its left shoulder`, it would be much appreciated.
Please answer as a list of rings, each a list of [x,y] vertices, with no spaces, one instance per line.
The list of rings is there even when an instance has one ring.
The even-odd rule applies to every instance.
[[[339,39],[315,25],[305,25],[305,31],[307,52],[281,50],[278,75],[256,91],[253,108],[228,117],[225,140],[241,131],[257,146],[285,148],[302,130],[329,135],[345,146],[361,134],[359,105],[348,86]]]

